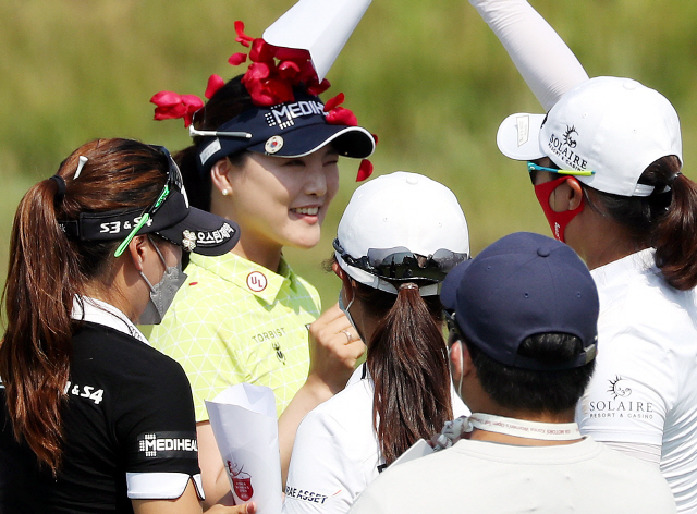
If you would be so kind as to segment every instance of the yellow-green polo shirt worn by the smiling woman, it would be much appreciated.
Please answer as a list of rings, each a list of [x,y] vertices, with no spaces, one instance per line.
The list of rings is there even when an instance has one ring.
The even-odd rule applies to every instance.
[[[196,420],[208,419],[205,400],[241,382],[271,388],[280,415],[307,378],[319,293],[283,259],[277,274],[232,253],[192,254],[186,273],[149,340],[186,371]]]

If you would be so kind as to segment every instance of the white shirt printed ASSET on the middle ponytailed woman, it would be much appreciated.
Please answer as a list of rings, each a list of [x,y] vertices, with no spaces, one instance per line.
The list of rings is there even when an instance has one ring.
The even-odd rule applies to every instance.
[[[346,388],[301,423],[283,513],[345,513],[384,464],[372,427],[375,386],[359,366]],[[470,414],[451,387],[453,416]]]

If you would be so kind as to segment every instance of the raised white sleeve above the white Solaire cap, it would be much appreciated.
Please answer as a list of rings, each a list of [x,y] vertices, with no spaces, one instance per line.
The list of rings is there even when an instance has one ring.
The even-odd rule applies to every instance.
[[[588,74],[562,38],[526,0],[469,0],[549,111]]]

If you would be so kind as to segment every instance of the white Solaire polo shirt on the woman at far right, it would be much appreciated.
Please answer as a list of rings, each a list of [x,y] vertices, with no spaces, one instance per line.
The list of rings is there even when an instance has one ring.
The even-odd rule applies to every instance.
[[[598,441],[661,448],[678,512],[697,512],[697,298],[662,279],[646,249],[592,272],[598,358],[579,402]]]

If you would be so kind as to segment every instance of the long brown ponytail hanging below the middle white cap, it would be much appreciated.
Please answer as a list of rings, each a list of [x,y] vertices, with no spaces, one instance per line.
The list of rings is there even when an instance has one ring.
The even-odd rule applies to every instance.
[[[366,363],[375,381],[372,424],[391,464],[452,419],[442,306],[438,295],[420,296],[414,283],[396,295],[362,284],[354,292],[380,318]]]

